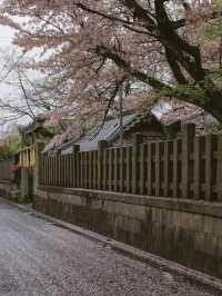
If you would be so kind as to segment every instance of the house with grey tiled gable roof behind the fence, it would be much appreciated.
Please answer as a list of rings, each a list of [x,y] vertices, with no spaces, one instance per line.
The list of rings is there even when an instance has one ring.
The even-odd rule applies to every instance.
[[[127,111],[123,114],[122,121],[123,145],[131,145],[132,135],[135,132],[141,132],[144,141],[165,139],[169,135],[151,109],[145,114]],[[170,129],[173,129],[173,125]],[[59,151],[62,155],[71,154],[73,145],[79,145],[80,151],[97,150],[100,140],[105,140],[110,147],[120,145],[120,117],[109,117],[103,125],[100,124],[79,139],[61,145]]]

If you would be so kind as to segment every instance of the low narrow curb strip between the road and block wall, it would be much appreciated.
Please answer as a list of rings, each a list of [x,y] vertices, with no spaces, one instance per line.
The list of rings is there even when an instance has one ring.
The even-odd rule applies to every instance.
[[[195,272],[193,269],[186,268],[186,267],[184,267],[180,264],[176,264],[174,262],[163,259],[157,255],[137,249],[130,245],[113,240],[113,239],[105,237],[103,235],[92,233],[90,230],[85,230],[79,226],[65,223],[65,221],[57,219],[52,216],[41,214],[41,213],[36,211],[34,209],[32,209],[26,205],[17,204],[17,203],[13,203],[11,200],[8,200],[8,199],[1,198],[1,197],[0,197],[0,200],[3,200],[4,203],[7,203],[11,206],[16,206],[18,209],[20,209],[22,211],[26,211],[28,214],[32,214],[37,218],[42,218],[47,221],[51,221],[59,227],[71,230],[75,234],[84,236],[84,237],[87,237],[91,240],[94,240],[97,243],[102,243],[105,246],[110,246],[113,250],[121,253],[128,257],[131,257],[133,259],[138,259],[140,262],[150,264],[152,266],[155,266],[163,272],[168,272],[168,273],[171,273],[171,274],[176,275],[176,276],[182,276],[185,279],[188,279],[189,282],[192,282],[194,284],[198,284],[198,285],[201,284],[202,286],[205,286],[206,288],[211,288],[211,289],[214,289],[215,292],[220,292],[221,293],[220,295],[222,295],[222,280],[219,278],[209,276],[209,275],[200,273],[200,272]]]

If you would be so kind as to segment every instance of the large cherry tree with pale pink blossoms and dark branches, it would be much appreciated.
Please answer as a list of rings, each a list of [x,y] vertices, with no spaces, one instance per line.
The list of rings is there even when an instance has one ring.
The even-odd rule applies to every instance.
[[[199,38],[221,11],[211,0],[4,0],[1,23],[23,52],[41,52],[23,67],[47,75],[42,91],[84,120],[123,86],[135,105],[152,90],[143,99],[174,97],[222,121],[220,37]]]

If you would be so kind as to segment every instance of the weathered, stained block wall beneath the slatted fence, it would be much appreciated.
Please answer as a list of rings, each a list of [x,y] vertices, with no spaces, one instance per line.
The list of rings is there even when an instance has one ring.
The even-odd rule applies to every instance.
[[[34,208],[222,278],[222,205],[39,187]]]

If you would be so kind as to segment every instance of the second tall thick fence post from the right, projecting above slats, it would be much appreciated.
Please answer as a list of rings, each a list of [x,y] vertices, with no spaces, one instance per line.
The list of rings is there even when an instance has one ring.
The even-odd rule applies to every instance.
[[[140,144],[142,142],[142,134],[137,132],[133,135],[133,152],[132,152],[132,193],[138,193],[140,186],[140,166],[139,166],[139,154]]]

